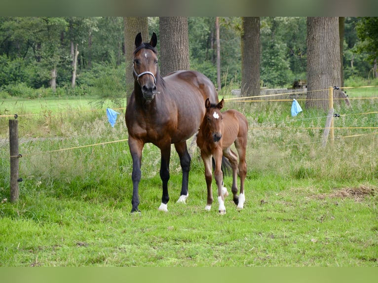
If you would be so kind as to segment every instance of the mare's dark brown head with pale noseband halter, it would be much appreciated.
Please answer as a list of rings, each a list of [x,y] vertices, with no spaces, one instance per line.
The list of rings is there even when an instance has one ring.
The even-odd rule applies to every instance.
[[[133,59],[134,78],[142,90],[143,98],[151,101],[157,93],[157,37],[153,33],[150,42],[142,42],[142,35],[135,37],[135,51]]]

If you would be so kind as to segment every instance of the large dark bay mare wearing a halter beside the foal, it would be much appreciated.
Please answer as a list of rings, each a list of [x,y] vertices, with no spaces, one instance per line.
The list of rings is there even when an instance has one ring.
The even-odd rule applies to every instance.
[[[139,182],[141,180],[142,149],[146,142],[160,148],[160,178],[163,195],[159,210],[167,211],[169,201],[168,180],[171,144],[180,157],[183,171],[182,187],[178,202],[188,198],[190,156],[186,141],[193,136],[205,115],[204,103],[210,99],[218,103],[214,84],[204,74],[196,71],[176,71],[165,77],[159,75],[156,51],[157,37],[142,42],[135,37],[133,59],[134,91],[126,107],[128,143],[133,159],[133,198],[131,212],[139,212]]]

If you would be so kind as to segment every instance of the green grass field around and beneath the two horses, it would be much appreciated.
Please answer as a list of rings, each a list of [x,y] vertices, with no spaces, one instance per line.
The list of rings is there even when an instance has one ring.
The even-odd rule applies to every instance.
[[[108,106],[116,107],[99,110],[84,99],[0,101],[0,114],[36,114],[18,118],[24,140],[16,203],[8,201],[9,147],[0,144],[0,266],[378,266],[375,99],[336,106],[335,141],[326,147],[322,111],[302,105],[292,117],[291,102],[226,102],[247,116],[250,131],[245,207],[237,211],[228,198],[223,216],[216,201],[204,210],[198,150],[187,204],[176,203],[181,169],[172,150],[165,213],[157,211],[159,152],[145,146],[142,213],[135,215],[127,141],[50,152],[127,139],[123,115],[112,128]],[[5,140],[7,119],[0,117]],[[231,178],[225,183],[229,188]]]

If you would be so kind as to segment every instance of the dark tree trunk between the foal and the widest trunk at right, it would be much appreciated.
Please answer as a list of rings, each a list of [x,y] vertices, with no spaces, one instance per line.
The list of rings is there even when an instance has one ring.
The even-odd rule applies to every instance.
[[[260,17],[242,17],[241,96],[260,95]]]

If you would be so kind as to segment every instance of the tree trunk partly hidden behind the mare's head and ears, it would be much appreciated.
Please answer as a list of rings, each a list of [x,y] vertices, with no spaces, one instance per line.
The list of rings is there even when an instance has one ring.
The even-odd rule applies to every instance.
[[[143,41],[150,41],[147,17],[124,17],[124,40],[126,62],[126,97],[127,101],[134,89],[133,58],[135,50],[135,36],[142,33]]]

